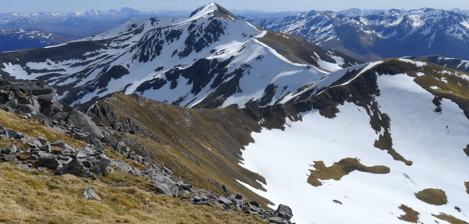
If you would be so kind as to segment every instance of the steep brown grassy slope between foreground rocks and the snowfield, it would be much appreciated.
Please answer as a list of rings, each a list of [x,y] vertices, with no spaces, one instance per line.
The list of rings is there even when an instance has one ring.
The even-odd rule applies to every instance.
[[[137,123],[142,130],[136,130],[135,135],[116,135],[137,140],[153,159],[170,168],[175,175],[218,195],[223,194],[220,189],[223,184],[249,200],[264,206],[270,203],[236,181],[260,189],[262,186],[256,180],[265,182],[262,176],[238,164],[241,159],[239,149],[253,141],[252,131],[260,129],[259,124],[242,110],[187,109],[135,94],[119,93],[99,103],[111,105],[123,121],[130,119]]]

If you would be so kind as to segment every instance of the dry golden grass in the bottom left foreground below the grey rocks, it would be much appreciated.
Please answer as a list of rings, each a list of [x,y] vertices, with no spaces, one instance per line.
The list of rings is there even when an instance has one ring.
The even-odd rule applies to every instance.
[[[103,200],[85,200],[90,186]],[[196,206],[138,187],[113,187],[0,164],[1,223],[265,223],[254,216]]]

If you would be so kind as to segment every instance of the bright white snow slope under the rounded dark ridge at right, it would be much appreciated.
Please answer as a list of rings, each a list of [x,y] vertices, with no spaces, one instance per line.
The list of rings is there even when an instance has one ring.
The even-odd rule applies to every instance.
[[[302,121],[286,119],[285,130],[253,133],[255,143],[243,151],[241,165],[264,176],[267,191],[245,185],[274,203],[291,206],[298,224],[406,223],[402,204],[420,213],[420,223],[447,223],[435,217],[443,213],[468,222],[469,100],[468,95],[456,96],[468,93],[467,74],[404,59],[339,73],[328,77],[335,84],[308,99],[319,106],[301,113]],[[361,88],[377,91],[371,91],[370,98],[363,91],[352,96]],[[338,111],[314,103],[321,101],[337,102],[332,107]],[[385,132],[402,159],[380,146],[385,145],[379,141]],[[337,179],[340,169],[312,166],[322,161],[337,168],[346,158],[357,158],[359,164],[342,163],[350,173],[339,180],[324,177]],[[360,163],[389,169],[362,172]],[[308,183],[311,170],[324,179],[318,179],[320,185]],[[414,193],[426,188],[446,192],[448,203],[438,206],[417,199]]]

